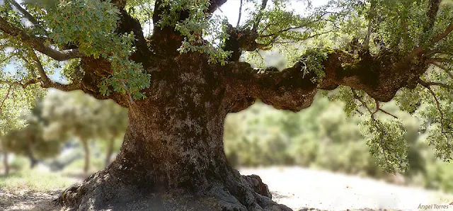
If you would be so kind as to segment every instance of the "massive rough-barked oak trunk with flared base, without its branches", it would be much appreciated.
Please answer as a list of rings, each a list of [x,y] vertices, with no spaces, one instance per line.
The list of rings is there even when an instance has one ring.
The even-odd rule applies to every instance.
[[[67,189],[59,203],[78,210],[290,210],[270,200],[258,176],[241,176],[227,163],[224,119],[237,105],[201,58],[162,64],[147,99],[129,101],[115,161]]]

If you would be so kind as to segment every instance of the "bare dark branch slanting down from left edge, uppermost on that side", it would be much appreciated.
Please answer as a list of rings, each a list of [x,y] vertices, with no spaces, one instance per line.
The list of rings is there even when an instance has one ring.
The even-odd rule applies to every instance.
[[[52,47],[45,45],[40,38],[37,38],[34,35],[28,35],[24,30],[9,24],[3,17],[0,17],[0,30],[8,35],[20,38],[23,43],[30,45],[30,47],[33,47],[35,50],[58,61],[82,57],[82,53],[77,49],[63,51],[54,50]]]

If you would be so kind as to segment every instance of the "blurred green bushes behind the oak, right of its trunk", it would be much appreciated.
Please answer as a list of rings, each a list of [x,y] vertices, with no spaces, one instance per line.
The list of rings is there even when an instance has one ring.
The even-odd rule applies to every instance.
[[[343,105],[316,98],[310,108],[299,113],[256,103],[241,113],[230,114],[225,123],[226,157],[234,166],[297,165],[389,178],[360,133],[363,119],[348,118]],[[425,142],[426,131],[418,129],[420,122],[403,115],[394,103],[387,103],[385,109],[398,115],[406,126],[406,182],[453,191],[453,164],[435,159]]]

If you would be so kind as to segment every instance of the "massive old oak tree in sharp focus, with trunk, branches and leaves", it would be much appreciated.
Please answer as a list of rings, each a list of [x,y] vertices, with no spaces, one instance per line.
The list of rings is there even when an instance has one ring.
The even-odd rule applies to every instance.
[[[246,21],[236,26],[213,16],[226,0],[2,2],[1,56],[29,69],[2,84],[81,89],[129,109],[115,161],[65,190],[60,205],[289,210],[273,203],[258,176],[227,164],[224,119],[256,99],[302,110],[317,91],[338,86],[348,110],[369,113],[370,151],[387,170],[406,168],[401,122],[376,115],[395,96],[411,112],[435,108],[422,114],[437,128],[431,143],[452,157],[451,1],[334,0],[304,15],[290,1],[238,1]],[[310,38],[318,41],[304,42]],[[297,56],[282,71],[239,62],[244,52],[278,48]],[[66,61],[59,70],[68,83],[50,79],[55,61]]]

